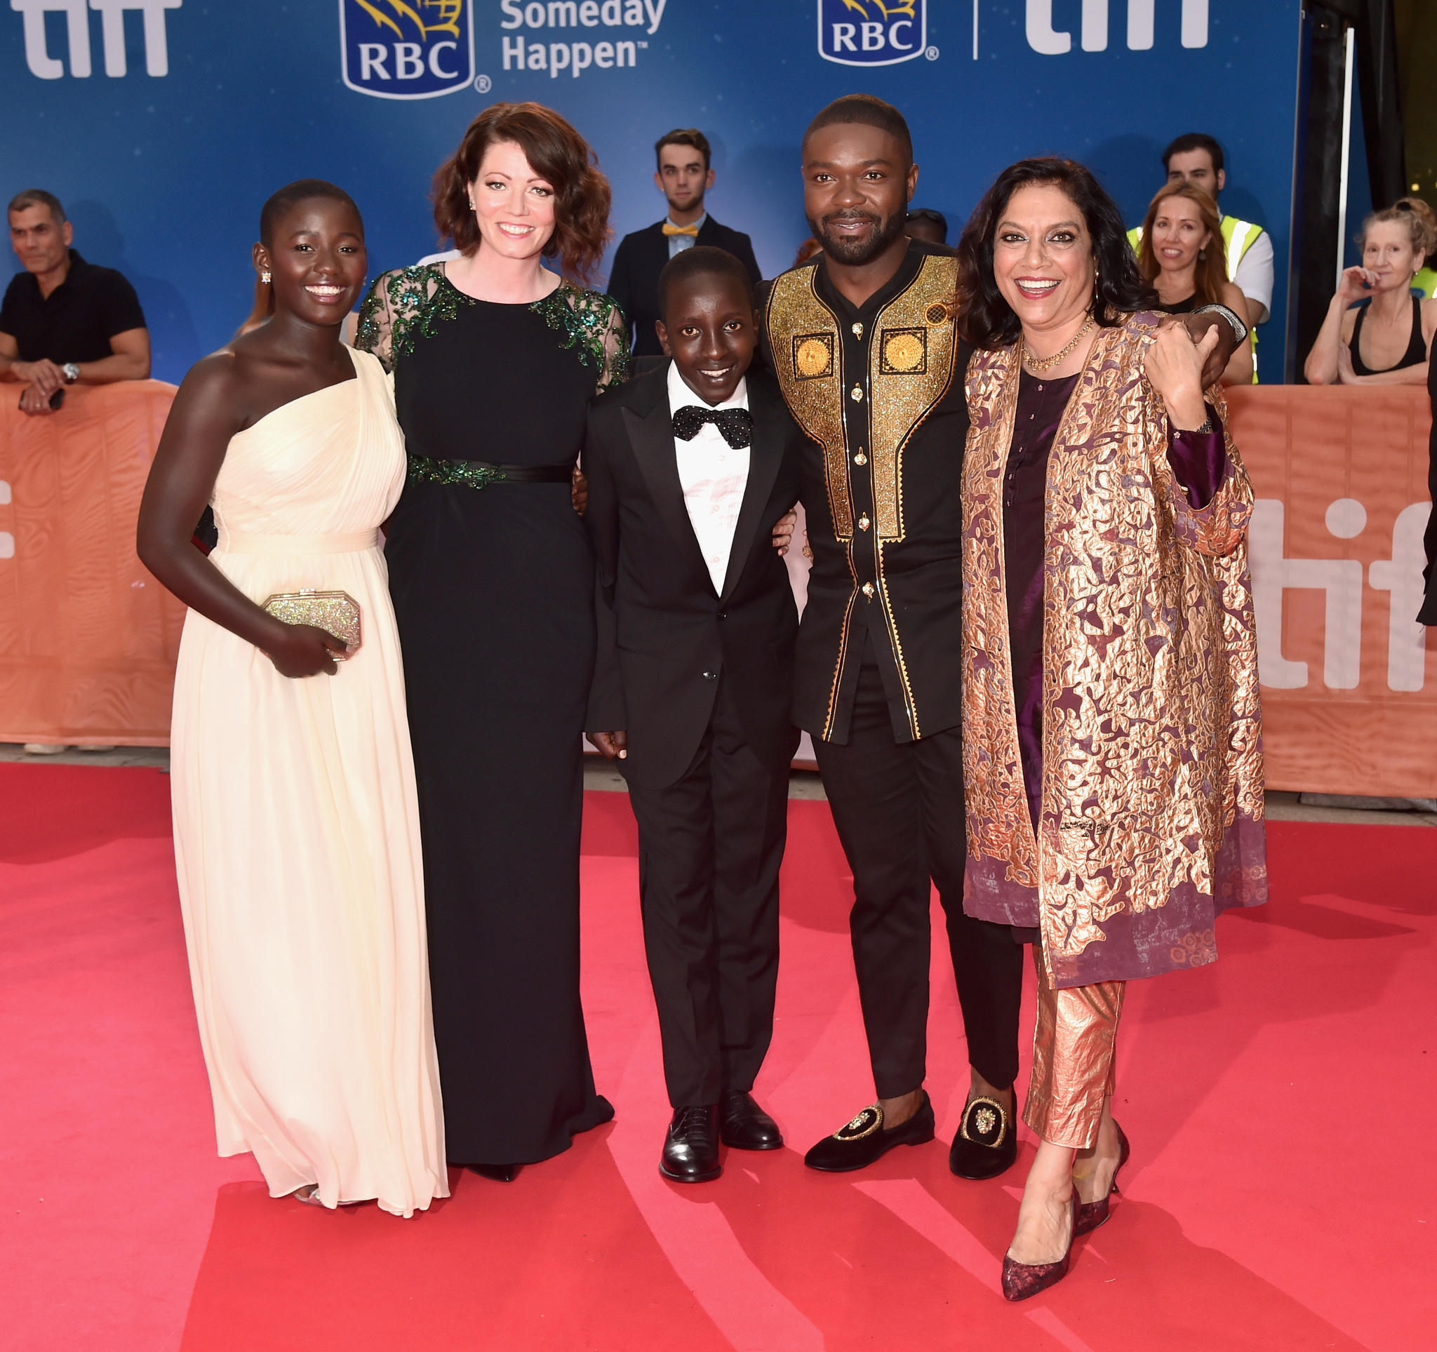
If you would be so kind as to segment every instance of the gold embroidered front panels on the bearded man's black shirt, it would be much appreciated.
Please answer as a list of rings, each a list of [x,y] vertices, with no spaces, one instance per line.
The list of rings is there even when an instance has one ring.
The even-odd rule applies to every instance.
[[[823,448],[833,532],[844,543],[854,537],[849,418],[862,412],[867,384],[874,526],[881,549],[904,537],[904,445],[953,382],[957,260],[928,254],[914,280],[878,312],[878,341],[869,343],[867,372],[844,369],[839,319],[815,292],[816,276],[816,263],[796,267],[769,292],[773,365],[793,417]]]

